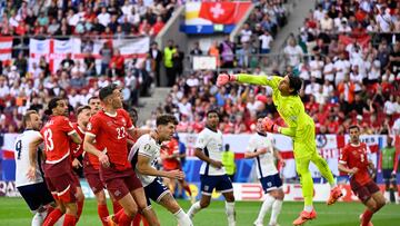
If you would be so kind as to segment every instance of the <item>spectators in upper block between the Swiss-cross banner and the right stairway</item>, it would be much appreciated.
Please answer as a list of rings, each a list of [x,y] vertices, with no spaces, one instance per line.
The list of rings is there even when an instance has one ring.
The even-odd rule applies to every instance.
[[[227,36],[221,42],[213,41],[208,49],[200,49],[196,43],[190,55],[208,55],[218,59],[217,65],[222,68],[257,67],[258,55],[270,52],[273,38],[288,20],[286,0],[257,1],[254,10],[244,22],[237,40]]]

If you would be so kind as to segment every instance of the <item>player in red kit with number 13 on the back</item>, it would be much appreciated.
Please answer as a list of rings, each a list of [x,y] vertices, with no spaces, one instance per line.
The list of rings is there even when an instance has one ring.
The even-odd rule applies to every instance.
[[[34,153],[38,146],[44,141],[44,178],[58,205],[46,218],[43,225],[53,225],[64,213],[63,225],[76,225],[77,185],[70,161],[70,140],[81,144],[82,139],[66,117],[68,114],[66,100],[61,98],[51,99],[46,114],[50,115],[50,120],[40,130],[42,137],[33,140],[30,145],[30,153]],[[31,166],[28,175],[31,178],[34,178],[36,161],[33,158],[30,159]]]

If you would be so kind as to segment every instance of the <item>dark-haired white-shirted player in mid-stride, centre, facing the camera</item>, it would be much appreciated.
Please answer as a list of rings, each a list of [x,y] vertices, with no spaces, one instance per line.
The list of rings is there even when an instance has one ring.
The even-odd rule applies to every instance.
[[[207,112],[206,128],[199,134],[194,155],[203,163],[200,168],[201,199],[194,203],[188,215],[190,218],[202,208],[210,205],[212,190],[219,190],[226,198],[228,225],[234,226],[234,196],[232,181],[222,165],[222,132],[218,130],[219,115],[217,110]]]

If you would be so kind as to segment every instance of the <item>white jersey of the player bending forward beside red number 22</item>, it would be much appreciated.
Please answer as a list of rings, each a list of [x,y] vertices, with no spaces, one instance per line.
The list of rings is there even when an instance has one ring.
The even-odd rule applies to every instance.
[[[150,159],[149,165],[156,169],[158,158],[160,157],[160,148],[161,146],[150,135],[142,135],[131,148],[128,159],[131,161],[134,155],[146,156]],[[137,168],[134,170],[143,187],[150,185],[157,178],[154,176],[142,175]]]

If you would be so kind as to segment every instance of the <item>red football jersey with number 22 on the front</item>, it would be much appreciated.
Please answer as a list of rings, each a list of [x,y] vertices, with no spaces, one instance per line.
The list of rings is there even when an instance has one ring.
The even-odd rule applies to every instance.
[[[86,134],[96,137],[96,147],[99,150],[107,149],[110,163],[116,169],[123,170],[131,168],[128,161],[127,131],[133,128],[132,120],[126,110],[118,109],[113,116],[100,110],[90,118]],[[92,158],[97,157],[90,155],[91,163]]]

